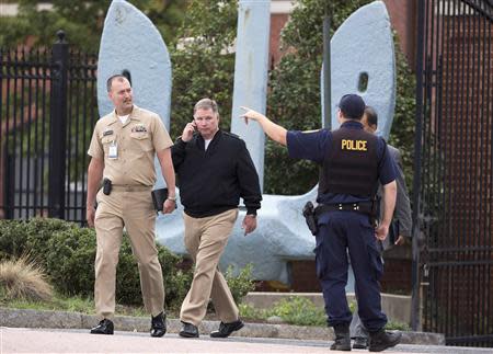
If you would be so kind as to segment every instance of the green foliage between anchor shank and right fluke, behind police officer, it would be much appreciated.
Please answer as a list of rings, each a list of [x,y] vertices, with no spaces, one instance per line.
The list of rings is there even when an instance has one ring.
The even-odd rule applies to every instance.
[[[287,54],[271,71],[267,116],[289,129],[321,127],[320,70],[323,53],[323,18],[331,12],[331,35],[358,8],[370,0],[299,0],[282,33]],[[414,129],[414,77],[395,45],[398,89],[390,142],[403,151],[406,179],[411,181]],[[289,160],[285,148],[267,141],[265,192],[301,194],[317,184],[318,165]],[[410,184],[408,182],[408,184]]]

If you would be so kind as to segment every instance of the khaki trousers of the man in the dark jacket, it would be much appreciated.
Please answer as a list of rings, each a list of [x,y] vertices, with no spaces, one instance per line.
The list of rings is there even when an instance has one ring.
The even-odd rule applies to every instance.
[[[205,218],[193,218],[184,214],[185,247],[195,262],[195,272],[192,286],[183,300],[181,321],[198,326],[206,315],[209,298],[222,322],[238,320],[238,307],[218,270],[219,259],[237,217],[238,209]]]

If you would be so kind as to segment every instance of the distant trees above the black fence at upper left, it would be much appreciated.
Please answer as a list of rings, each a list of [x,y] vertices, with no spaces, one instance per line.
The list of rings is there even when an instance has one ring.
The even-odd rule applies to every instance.
[[[161,32],[164,41],[172,42],[184,16],[187,0],[128,0],[141,10]],[[0,46],[30,44],[50,46],[55,33],[64,30],[67,38],[78,48],[95,53],[100,46],[107,0],[51,0],[53,9],[38,8],[46,1],[19,0],[19,15],[2,18]]]

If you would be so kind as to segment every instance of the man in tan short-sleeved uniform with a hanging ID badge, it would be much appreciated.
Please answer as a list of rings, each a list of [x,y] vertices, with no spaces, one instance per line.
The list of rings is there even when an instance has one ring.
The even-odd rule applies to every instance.
[[[162,336],[167,331],[164,285],[154,243],[151,190],[157,153],[169,190],[163,213],[175,209],[170,149],[173,142],[158,114],[134,104],[125,77],[111,77],[107,92],[115,111],[96,123],[88,151],[92,159],[88,169],[87,219],[96,229],[94,301],[101,318],[91,333],[113,334],[116,265],[125,226],[138,261],[144,305],[151,313],[151,336]],[[104,187],[98,192],[103,178],[104,184],[111,181],[111,191]]]

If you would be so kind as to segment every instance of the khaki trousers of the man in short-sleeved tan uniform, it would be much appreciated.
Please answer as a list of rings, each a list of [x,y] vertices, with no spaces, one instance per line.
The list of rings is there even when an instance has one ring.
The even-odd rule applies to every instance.
[[[137,258],[144,305],[152,316],[157,316],[164,307],[164,284],[154,242],[156,212],[150,189],[112,191],[110,195],[98,193],[94,220],[98,240],[94,263],[96,312],[107,319],[115,312],[116,265],[124,225]]]

